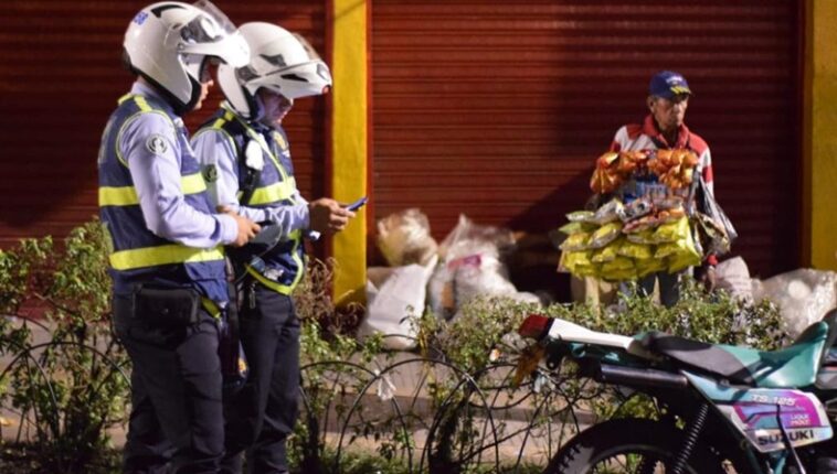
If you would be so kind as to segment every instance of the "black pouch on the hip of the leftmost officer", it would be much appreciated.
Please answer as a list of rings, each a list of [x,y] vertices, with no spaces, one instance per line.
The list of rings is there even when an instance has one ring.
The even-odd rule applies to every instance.
[[[134,290],[134,317],[153,325],[187,326],[200,320],[201,295],[191,288],[149,284]]]

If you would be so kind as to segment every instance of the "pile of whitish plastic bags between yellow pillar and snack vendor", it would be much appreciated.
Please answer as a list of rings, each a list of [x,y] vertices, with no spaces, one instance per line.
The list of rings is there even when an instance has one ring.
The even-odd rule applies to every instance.
[[[378,246],[390,267],[368,269],[367,314],[359,336],[388,335],[394,349],[415,346],[412,320],[425,308],[444,320],[479,295],[534,302],[537,295],[519,292],[509,280],[505,256],[515,247],[509,229],[475,224],[465,215],[437,244],[427,217],[416,208],[378,222]]]

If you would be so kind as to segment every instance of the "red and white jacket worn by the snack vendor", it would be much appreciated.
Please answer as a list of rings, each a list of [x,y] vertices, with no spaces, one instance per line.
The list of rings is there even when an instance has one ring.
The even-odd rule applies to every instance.
[[[660,150],[660,149],[687,149],[698,155],[696,172],[703,176],[707,188],[714,194],[714,180],[712,174],[712,155],[709,152],[709,146],[697,133],[689,130],[686,125],[681,125],[677,132],[677,142],[668,143],[663,133],[657,129],[654,117],[648,115],[642,125],[626,125],[616,131],[616,136],[611,143],[611,151],[642,151],[642,150]],[[711,265],[717,263],[713,255],[708,256],[707,261]]]

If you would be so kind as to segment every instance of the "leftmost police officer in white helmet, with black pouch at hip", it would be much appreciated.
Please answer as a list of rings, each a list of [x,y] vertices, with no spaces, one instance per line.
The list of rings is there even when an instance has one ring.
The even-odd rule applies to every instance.
[[[133,363],[126,473],[214,473],[223,454],[219,319],[229,305],[223,245],[259,227],[216,214],[180,118],[212,80],[211,61],[248,62],[209,2],[160,2],[125,33],[138,77],[102,137],[99,209],[113,240],[114,325]]]

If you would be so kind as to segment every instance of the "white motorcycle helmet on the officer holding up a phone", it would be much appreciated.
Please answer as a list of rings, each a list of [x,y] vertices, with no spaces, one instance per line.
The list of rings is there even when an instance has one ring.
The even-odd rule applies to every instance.
[[[245,67],[218,67],[218,82],[230,106],[248,120],[261,118],[256,91],[261,87],[288,99],[318,96],[331,87],[331,73],[303,36],[275,24],[253,22],[239,28],[250,45]]]

